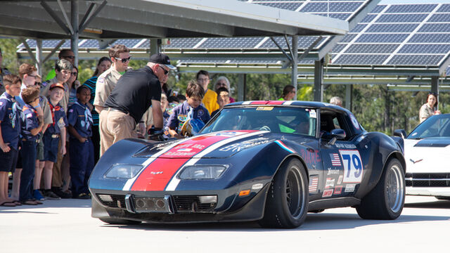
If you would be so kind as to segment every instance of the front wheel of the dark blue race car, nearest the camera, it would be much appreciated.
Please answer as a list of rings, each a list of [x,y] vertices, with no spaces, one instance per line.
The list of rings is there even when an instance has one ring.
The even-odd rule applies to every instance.
[[[307,172],[302,162],[293,158],[284,162],[274,176],[267,194],[265,228],[297,228],[307,217],[309,189]]]

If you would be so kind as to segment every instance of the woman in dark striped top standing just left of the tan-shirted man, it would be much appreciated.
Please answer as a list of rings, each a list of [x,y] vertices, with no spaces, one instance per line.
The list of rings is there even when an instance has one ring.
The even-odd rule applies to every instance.
[[[97,77],[101,75],[103,72],[108,70],[111,67],[111,60],[108,57],[102,57],[98,60],[98,64],[96,67],[96,71],[94,75],[87,79],[83,85],[87,86],[91,91],[91,99],[89,100],[89,108],[91,109],[92,115],[92,143],[94,144],[94,163],[98,161],[98,157],[100,155],[100,132],[98,131],[98,112],[94,109],[92,104],[94,104],[94,98],[96,96],[96,82]]]

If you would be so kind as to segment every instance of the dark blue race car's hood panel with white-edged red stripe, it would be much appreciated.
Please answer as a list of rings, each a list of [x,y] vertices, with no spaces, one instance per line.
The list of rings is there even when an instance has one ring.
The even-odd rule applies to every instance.
[[[202,153],[203,158],[225,158],[241,150],[272,141],[276,139],[271,138],[269,131],[219,131],[178,141],[148,145],[134,154],[134,157],[185,159]]]

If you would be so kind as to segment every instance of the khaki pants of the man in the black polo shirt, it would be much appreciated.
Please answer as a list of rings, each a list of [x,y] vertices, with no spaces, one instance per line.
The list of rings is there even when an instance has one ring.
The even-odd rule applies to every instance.
[[[124,138],[136,138],[135,127],[136,122],[129,114],[110,109],[101,111],[99,124],[100,155],[103,155],[117,141]]]

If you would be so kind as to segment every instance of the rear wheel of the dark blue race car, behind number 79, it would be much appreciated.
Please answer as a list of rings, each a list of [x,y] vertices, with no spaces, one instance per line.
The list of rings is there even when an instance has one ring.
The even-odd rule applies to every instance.
[[[392,158],[380,181],[363,197],[356,212],[362,219],[397,219],[405,204],[405,175],[399,160]]]

